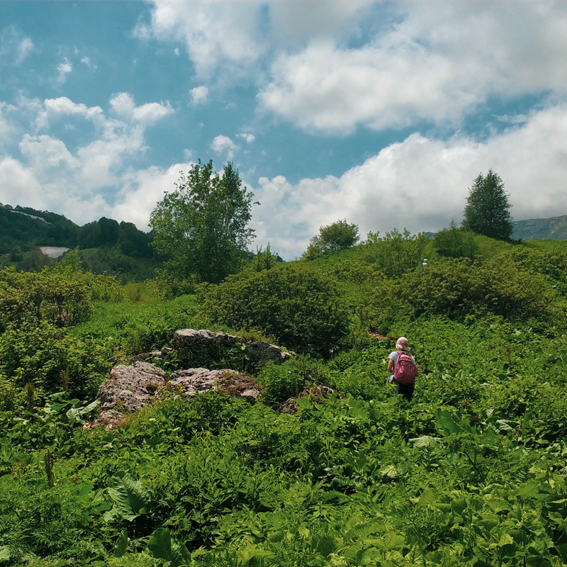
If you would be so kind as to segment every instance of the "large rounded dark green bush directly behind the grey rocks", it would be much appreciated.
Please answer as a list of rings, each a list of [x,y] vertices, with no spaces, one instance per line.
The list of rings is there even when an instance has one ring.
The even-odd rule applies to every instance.
[[[210,288],[203,313],[229,327],[262,330],[299,352],[330,354],[347,332],[347,313],[334,283],[285,266],[230,276]]]

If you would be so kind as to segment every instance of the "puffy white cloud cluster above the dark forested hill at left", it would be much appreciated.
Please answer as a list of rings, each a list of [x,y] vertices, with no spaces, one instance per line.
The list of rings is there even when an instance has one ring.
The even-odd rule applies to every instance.
[[[169,103],[135,106],[128,93],[115,95],[110,101],[111,111],[118,118],[106,116],[99,106],[89,107],[67,97],[43,102],[23,99],[20,106],[26,113],[35,111],[35,119],[27,125],[34,131],[21,136],[21,159],[0,160],[3,199],[11,204],[55,210],[77,223],[111,215],[113,206],[128,201],[130,191],[137,190],[131,181],[134,173],[128,158],[145,151],[147,125],[172,112]],[[0,118],[7,107],[0,103]],[[77,120],[91,121],[95,127],[91,140],[67,147],[63,140],[45,133],[57,120],[65,120],[66,125]],[[0,120],[0,127],[2,123]],[[25,128],[18,125],[20,131]],[[135,213],[123,215],[120,220],[144,217],[141,228],[145,228],[149,215],[145,199],[137,194],[135,200]]]

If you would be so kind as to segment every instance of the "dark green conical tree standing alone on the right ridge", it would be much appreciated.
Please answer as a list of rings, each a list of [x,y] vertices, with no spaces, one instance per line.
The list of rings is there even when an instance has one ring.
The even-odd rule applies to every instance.
[[[510,207],[500,176],[492,169],[485,176],[480,173],[466,198],[463,228],[507,240],[514,230]]]

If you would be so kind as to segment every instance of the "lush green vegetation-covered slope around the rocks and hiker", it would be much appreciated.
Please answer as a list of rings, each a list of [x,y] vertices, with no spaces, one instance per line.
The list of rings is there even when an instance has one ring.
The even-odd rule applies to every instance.
[[[391,235],[169,300],[72,262],[0,272],[0,563],[567,565],[567,251],[477,244]],[[261,399],[164,391],[125,427],[82,427],[113,364],[228,325],[293,340]],[[400,335],[410,403],[386,385]],[[278,411],[312,385],[336,395]]]

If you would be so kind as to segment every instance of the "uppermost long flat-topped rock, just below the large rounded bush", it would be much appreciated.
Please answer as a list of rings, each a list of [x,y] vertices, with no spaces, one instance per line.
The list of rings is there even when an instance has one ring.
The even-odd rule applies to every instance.
[[[218,347],[235,347],[237,343],[243,342],[240,337],[228,335],[225,332],[213,332],[208,329],[180,329],[175,332],[172,339],[172,347],[178,350],[191,350],[201,348],[206,344]],[[268,362],[282,364],[291,357],[289,352],[277,347],[275,344],[260,340],[244,341],[245,353],[249,360],[257,365],[264,366]]]

